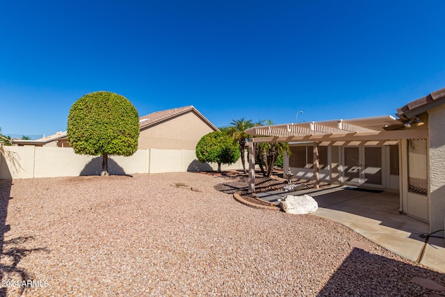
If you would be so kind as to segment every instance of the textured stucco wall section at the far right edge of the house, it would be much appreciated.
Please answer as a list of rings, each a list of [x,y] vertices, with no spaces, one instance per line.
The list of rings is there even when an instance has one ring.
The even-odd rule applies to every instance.
[[[428,113],[430,231],[435,232],[445,225],[445,105],[430,109]]]

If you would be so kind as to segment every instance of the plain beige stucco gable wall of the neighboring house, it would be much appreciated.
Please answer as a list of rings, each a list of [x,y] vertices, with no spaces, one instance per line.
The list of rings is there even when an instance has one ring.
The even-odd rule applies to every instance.
[[[189,111],[141,130],[139,149],[195,150],[201,137],[212,131],[196,113]]]

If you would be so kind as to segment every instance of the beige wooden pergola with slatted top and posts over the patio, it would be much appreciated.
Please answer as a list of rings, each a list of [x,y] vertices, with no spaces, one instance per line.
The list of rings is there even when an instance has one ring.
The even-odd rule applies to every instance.
[[[312,142],[314,145],[314,176],[318,185],[318,144],[345,145],[350,142],[375,142],[389,145],[401,139],[427,138],[426,129],[407,129],[402,120],[391,115],[350,120],[327,120],[281,125],[259,126],[245,130],[249,138],[249,191],[255,191],[255,144]],[[372,144],[372,143],[370,143]]]

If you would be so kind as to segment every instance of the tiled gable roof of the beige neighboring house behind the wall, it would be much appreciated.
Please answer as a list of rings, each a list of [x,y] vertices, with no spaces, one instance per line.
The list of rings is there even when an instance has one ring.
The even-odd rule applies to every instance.
[[[207,123],[213,130],[218,131],[218,128],[215,127],[207,118],[204,117],[193,105],[179,107],[177,109],[167,109],[165,111],[156,111],[154,113],[149,113],[148,115],[143,115],[139,118],[139,127],[140,129],[146,129],[147,127],[159,124],[161,122],[165,122],[172,118],[176,118],[179,115],[183,115],[184,113],[188,113],[192,111],[198,117],[200,117],[204,122]]]

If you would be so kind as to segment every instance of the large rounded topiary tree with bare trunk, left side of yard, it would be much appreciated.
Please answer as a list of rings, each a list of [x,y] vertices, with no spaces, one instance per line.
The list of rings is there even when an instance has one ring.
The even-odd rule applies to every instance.
[[[84,95],[71,106],[67,138],[76,154],[102,155],[101,175],[108,175],[108,156],[131,156],[138,150],[138,111],[115,93]]]

